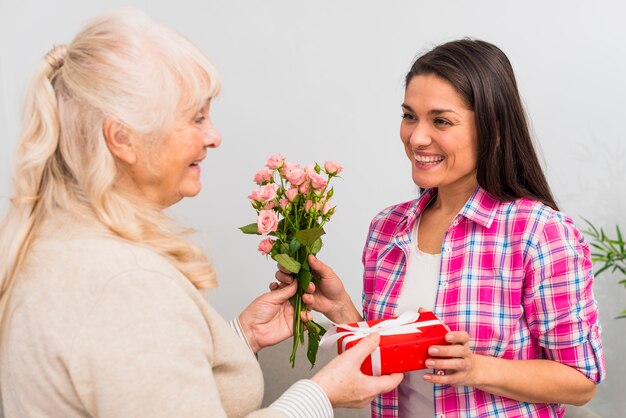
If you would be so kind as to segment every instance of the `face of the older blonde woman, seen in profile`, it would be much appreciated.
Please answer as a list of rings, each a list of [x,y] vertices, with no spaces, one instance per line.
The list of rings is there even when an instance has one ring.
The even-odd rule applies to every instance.
[[[206,149],[222,142],[209,118],[209,107],[207,101],[196,113],[177,117],[172,133],[138,156],[132,181],[150,201],[168,207],[200,192],[200,163]]]

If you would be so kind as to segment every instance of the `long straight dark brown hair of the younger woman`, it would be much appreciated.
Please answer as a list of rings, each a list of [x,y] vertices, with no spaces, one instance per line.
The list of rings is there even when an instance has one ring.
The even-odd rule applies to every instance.
[[[509,59],[495,45],[461,39],[420,56],[406,75],[449,82],[474,111],[480,187],[501,201],[527,197],[558,210],[528,129]]]

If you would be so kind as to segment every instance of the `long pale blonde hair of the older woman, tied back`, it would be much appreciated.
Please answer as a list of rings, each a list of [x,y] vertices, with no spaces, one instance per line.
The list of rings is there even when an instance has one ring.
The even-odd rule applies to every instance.
[[[96,18],[69,45],[53,48],[25,93],[0,224],[0,307],[41,224],[57,214],[98,222],[163,255],[197,288],[214,287],[211,264],[185,239],[190,231],[116,188],[120,173],[103,125],[115,117],[158,144],[177,112],[200,108],[219,88],[214,66],[190,41],[137,11]]]

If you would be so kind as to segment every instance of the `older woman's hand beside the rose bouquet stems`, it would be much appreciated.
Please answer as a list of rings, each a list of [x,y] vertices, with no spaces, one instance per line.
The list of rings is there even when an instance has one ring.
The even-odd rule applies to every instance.
[[[289,298],[296,294],[294,283],[264,293],[239,314],[239,323],[253,352],[278,344],[293,334],[293,306]]]

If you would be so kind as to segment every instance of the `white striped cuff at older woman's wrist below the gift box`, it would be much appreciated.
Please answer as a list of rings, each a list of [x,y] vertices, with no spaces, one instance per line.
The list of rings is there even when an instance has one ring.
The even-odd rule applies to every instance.
[[[298,380],[271,405],[289,418],[332,418],[328,395],[312,380]]]

